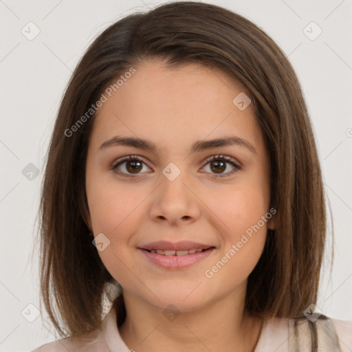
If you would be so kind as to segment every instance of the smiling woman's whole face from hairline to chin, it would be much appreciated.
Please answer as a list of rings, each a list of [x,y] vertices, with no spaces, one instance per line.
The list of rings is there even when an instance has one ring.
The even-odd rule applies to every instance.
[[[274,227],[270,160],[254,102],[243,109],[234,100],[243,87],[226,74],[162,62],[135,69],[94,122],[87,221],[124,294],[192,311],[245,289]],[[228,137],[235,143],[208,143]]]

